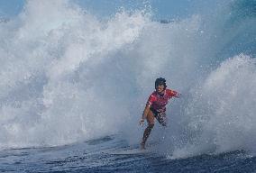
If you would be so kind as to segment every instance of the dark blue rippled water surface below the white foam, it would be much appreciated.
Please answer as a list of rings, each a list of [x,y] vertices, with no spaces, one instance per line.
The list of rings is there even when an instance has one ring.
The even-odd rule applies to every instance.
[[[155,150],[113,154],[131,148],[114,135],[67,146],[2,150],[2,172],[255,172],[256,158],[242,150],[168,159]]]

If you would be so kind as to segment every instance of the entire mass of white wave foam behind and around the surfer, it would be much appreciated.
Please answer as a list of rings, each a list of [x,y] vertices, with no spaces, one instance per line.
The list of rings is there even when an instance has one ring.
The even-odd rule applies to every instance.
[[[0,147],[118,132],[138,142],[154,80],[166,77],[183,97],[168,107],[165,153],[254,150],[255,60],[218,57],[223,23],[205,24],[199,14],[161,24],[125,10],[102,21],[69,1],[27,1],[0,25]],[[156,126],[151,138],[161,134]]]

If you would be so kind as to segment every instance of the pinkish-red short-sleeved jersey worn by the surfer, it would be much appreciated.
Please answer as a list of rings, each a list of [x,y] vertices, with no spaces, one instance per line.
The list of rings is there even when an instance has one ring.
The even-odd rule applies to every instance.
[[[163,96],[160,96],[156,91],[154,91],[148,99],[148,104],[151,105],[151,108],[157,112],[165,112],[165,106],[168,104],[169,99],[173,96],[178,96],[178,92],[166,89]]]

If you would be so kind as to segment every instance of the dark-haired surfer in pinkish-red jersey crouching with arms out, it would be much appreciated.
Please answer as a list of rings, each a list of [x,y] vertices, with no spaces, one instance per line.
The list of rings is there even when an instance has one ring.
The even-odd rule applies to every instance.
[[[142,119],[140,125],[144,123],[144,120],[147,119],[148,126],[145,129],[141,142],[141,149],[145,149],[145,143],[151,133],[152,128],[154,127],[155,118],[162,126],[167,125],[166,117],[166,105],[171,97],[179,97],[180,94],[177,91],[166,88],[165,78],[157,78],[155,81],[155,91],[151,94],[148,99],[148,102],[145,106],[145,109],[142,114]]]

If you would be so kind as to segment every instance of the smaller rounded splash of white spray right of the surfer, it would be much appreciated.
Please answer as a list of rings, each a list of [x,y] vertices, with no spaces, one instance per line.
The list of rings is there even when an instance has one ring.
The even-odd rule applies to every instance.
[[[226,59],[193,89],[183,115],[188,141],[173,157],[255,150],[255,65],[242,54]]]

